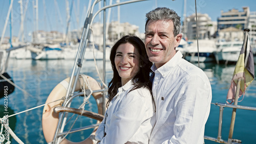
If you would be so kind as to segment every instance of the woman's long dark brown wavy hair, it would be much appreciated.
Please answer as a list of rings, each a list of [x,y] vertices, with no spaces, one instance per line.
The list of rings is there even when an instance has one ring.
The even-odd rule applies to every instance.
[[[131,43],[139,52],[140,59],[139,59],[139,71],[138,73],[133,77],[132,81],[134,83],[134,87],[130,90],[135,90],[137,88],[145,87],[151,92],[152,95],[152,82],[150,81],[150,75],[153,73],[151,70],[152,62],[148,60],[146,49],[143,41],[138,38],[137,36],[124,36],[121,39],[119,39],[114,46],[111,49],[110,53],[110,61],[113,69],[113,79],[109,83],[109,90],[108,90],[108,96],[109,101],[106,103],[106,106],[108,107],[111,100],[115,97],[117,94],[118,88],[121,87],[121,77],[118,74],[118,71],[116,69],[115,65],[115,56],[116,56],[116,50],[120,44],[124,43]],[[130,92],[129,91],[129,92]],[[153,99],[154,101],[154,99]]]

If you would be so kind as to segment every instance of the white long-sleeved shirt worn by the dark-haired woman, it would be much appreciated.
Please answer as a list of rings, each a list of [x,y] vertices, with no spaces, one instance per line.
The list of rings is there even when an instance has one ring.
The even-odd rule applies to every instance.
[[[148,143],[155,125],[154,103],[148,89],[130,91],[133,87],[130,80],[118,88],[96,131],[96,140],[100,143]]]

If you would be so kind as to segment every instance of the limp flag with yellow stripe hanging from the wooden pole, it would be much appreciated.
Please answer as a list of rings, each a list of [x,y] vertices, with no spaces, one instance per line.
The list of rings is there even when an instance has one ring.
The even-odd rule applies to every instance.
[[[246,42],[243,43],[236,67],[234,68],[231,85],[227,93],[226,102],[228,104],[231,104],[234,101],[234,95],[236,94],[237,82],[239,78],[242,78],[239,90],[239,98],[242,94],[245,93],[246,88],[254,79],[253,53],[250,46],[249,35],[248,33],[246,34],[247,39]]]

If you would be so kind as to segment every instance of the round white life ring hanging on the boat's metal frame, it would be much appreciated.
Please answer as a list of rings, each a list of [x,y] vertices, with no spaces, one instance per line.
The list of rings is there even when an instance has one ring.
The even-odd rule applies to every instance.
[[[83,75],[83,76],[85,76],[85,75]],[[88,79],[89,85],[92,90],[101,89],[101,86],[95,79],[93,79],[90,76],[86,76],[86,77]],[[56,101],[56,100],[59,100],[59,99],[65,97],[66,93],[67,93],[69,81],[70,81],[70,78],[67,78],[67,79],[61,81],[58,85],[56,85],[54,87],[54,89],[51,91],[51,93],[49,94],[49,96],[46,100],[46,103],[50,103],[50,102],[53,102],[53,101]],[[83,84],[83,79],[80,76],[79,80],[77,81],[75,91],[82,89],[81,84]],[[87,89],[87,87],[86,87],[86,89]],[[102,93],[95,92],[92,95],[97,102],[98,113],[102,113]],[[53,137],[54,137],[54,134],[55,134],[55,131],[57,128],[58,118],[59,118],[59,114],[55,113],[53,111],[53,109],[56,106],[62,106],[63,101],[64,100],[60,100],[60,101],[56,101],[54,103],[45,105],[44,110],[42,112],[42,131],[44,132],[44,136],[45,136],[45,139],[47,142],[51,142],[53,140]],[[93,133],[95,133],[95,132],[96,132],[96,130],[93,131]],[[94,142],[90,138],[87,138],[81,142],[72,142],[65,138],[60,143],[94,143]]]

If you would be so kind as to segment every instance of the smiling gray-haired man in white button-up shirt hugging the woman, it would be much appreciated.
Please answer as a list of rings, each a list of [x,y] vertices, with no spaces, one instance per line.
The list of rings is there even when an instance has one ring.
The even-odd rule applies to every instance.
[[[176,51],[180,25],[180,17],[168,8],[146,14],[144,42],[155,73],[156,124],[150,138],[154,144],[204,143],[211,86],[204,72]]]

